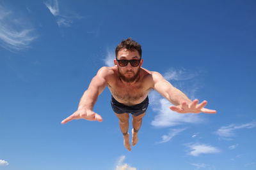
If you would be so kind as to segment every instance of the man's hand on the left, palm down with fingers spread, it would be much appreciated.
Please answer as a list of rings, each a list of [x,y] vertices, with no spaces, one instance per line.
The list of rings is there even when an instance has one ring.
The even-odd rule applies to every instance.
[[[62,120],[61,124],[66,124],[67,122],[70,122],[71,120],[75,119],[80,119],[83,118],[85,120],[90,120],[90,121],[99,121],[102,122],[102,117],[95,113],[92,110],[87,110],[87,109],[79,109],[69,117],[65,118]]]

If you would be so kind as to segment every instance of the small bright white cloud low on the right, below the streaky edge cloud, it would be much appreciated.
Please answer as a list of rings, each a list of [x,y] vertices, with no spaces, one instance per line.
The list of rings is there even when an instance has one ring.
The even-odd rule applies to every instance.
[[[218,148],[215,148],[211,145],[195,143],[195,144],[187,144],[186,146],[188,146],[191,150],[188,154],[195,156],[195,157],[202,153],[218,153],[218,152],[220,152],[220,150]]]

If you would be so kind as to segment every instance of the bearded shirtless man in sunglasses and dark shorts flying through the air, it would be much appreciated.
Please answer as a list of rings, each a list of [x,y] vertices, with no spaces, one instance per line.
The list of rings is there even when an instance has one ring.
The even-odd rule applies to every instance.
[[[120,129],[124,137],[124,146],[131,151],[129,141],[129,113],[132,115],[132,145],[138,143],[138,131],[142,118],[148,107],[148,92],[154,89],[175,106],[170,109],[178,113],[216,113],[215,110],[204,108],[207,101],[198,104],[191,101],[183,92],[176,89],[155,71],[141,67],[141,46],[131,38],[125,39],[116,46],[115,66],[101,67],[84,92],[78,109],[61,123],[83,118],[102,122],[102,117],[93,112],[97,97],[108,86],[111,96],[111,106],[119,119]]]

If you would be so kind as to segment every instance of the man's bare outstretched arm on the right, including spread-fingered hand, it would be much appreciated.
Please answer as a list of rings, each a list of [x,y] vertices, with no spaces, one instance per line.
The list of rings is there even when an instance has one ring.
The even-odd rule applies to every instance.
[[[152,72],[153,89],[159,92],[175,106],[170,106],[170,109],[178,113],[216,113],[216,110],[204,108],[207,101],[198,104],[198,100],[191,101],[183,92],[173,87],[173,85],[165,80],[160,73]]]

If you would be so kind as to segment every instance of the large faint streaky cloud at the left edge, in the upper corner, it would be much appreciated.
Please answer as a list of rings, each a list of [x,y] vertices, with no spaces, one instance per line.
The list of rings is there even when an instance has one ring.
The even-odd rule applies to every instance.
[[[0,4],[0,45],[12,52],[30,47],[37,38],[35,29],[20,13]]]

